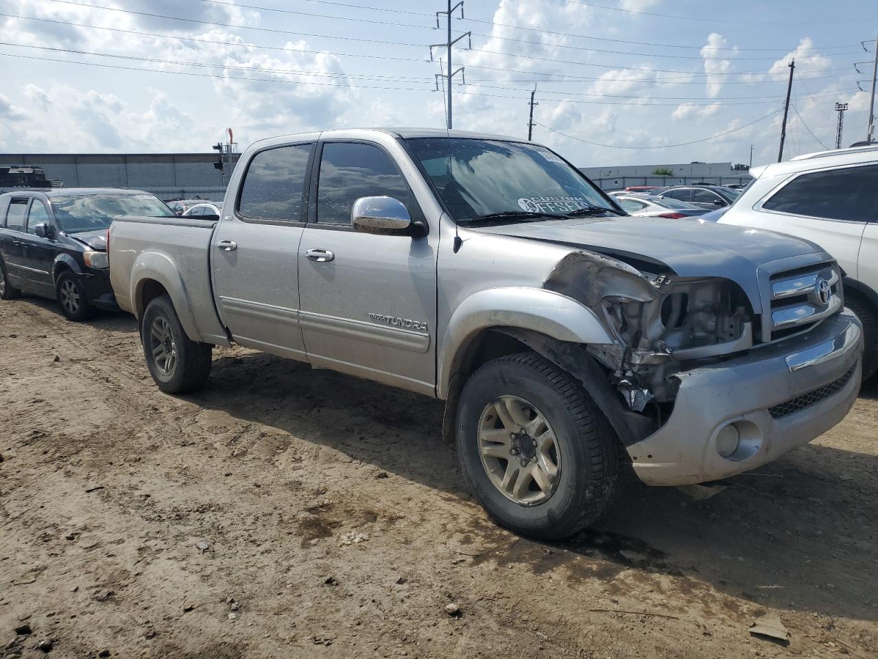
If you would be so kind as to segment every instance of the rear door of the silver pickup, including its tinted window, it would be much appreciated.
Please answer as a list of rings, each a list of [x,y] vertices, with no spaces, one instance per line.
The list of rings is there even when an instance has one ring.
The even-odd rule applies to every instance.
[[[238,207],[224,209],[211,248],[219,317],[234,340],[302,360],[298,254],[313,147],[311,142],[257,152]]]

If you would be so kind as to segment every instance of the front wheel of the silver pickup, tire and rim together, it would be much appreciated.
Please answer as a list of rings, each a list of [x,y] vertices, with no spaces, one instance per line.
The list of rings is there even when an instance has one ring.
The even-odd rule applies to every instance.
[[[521,433],[525,421],[529,431]],[[515,436],[506,435],[509,424]],[[613,503],[620,472],[615,434],[579,383],[539,356],[494,359],[473,373],[457,407],[456,434],[479,503],[511,531],[563,540]],[[518,471],[515,478],[510,469]]]

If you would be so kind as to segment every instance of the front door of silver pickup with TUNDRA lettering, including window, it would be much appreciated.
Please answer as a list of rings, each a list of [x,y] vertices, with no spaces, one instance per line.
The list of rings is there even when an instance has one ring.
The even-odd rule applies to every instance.
[[[373,195],[399,199],[413,219],[420,219],[407,181],[385,151],[372,144],[327,142],[316,222],[305,229],[299,249],[308,360],[432,395],[438,232],[413,238],[354,231],[353,202]]]

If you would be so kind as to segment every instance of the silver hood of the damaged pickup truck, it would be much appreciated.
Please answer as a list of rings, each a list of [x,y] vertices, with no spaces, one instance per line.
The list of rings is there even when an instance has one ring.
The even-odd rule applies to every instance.
[[[816,253],[817,244],[774,231],[697,220],[650,217],[574,218],[479,227],[484,233],[566,244],[610,257],[665,264],[680,277],[723,277],[759,307],[759,265]],[[663,270],[663,269],[660,269]]]

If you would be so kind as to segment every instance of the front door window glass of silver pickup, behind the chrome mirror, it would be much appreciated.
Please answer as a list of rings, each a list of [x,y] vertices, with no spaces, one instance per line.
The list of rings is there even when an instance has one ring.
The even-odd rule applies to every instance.
[[[396,165],[371,144],[327,142],[317,180],[317,221],[350,225],[356,199],[385,195],[407,205],[408,185]]]

